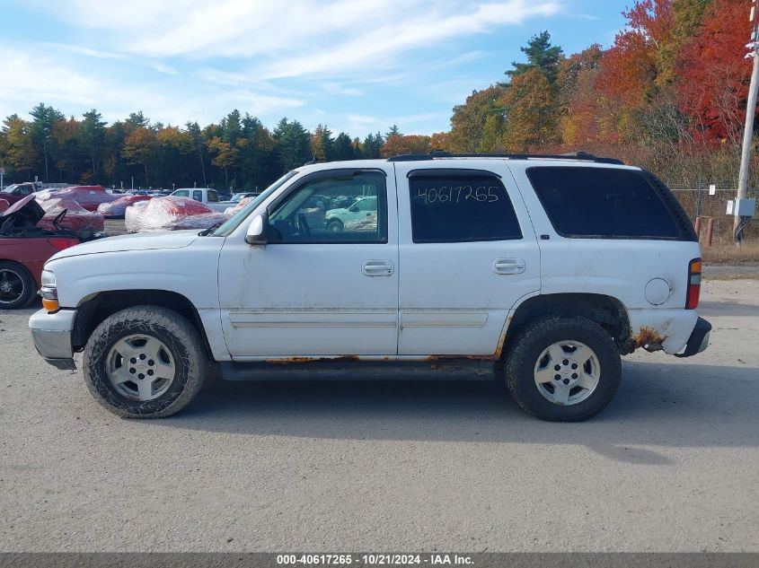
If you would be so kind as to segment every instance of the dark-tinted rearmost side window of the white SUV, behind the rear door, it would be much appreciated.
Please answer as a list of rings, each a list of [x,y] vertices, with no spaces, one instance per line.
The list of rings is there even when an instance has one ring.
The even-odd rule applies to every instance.
[[[654,188],[642,171],[551,166],[526,172],[562,237],[690,240],[671,210],[674,198],[660,195],[669,190]]]

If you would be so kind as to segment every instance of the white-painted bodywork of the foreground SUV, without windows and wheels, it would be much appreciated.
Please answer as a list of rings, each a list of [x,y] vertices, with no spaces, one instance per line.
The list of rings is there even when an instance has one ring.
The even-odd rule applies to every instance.
[[[507,316],[541,293],[617,299],[633,336],[651,328],[666,337],[666,353],[682,350],[697,318],[684,304],[688,263],[700,256],[698,243],[562,238],[526,177],[525,169],[536,163],[623,167],[496,159],[313,164],[299,169],[227,237],[187,231],[98,240],[58,253],[46,267],[56,274],[64,308],[104,291],[182,294],[197,308],[217,361],[492,356]],[[253,220],[304,175],[345,167],[386,173],[386,243],[245,242]],[[440,167],[498,174],[524,237],[413,243],[407,174]],[[44,326],[43,316],[35,316],[35,325]]]

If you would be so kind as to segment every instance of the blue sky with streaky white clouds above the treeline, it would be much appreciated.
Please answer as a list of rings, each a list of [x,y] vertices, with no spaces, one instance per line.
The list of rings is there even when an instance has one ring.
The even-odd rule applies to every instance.
[[[0,0],[0,117],[44,101],[110,121],[267,127],[296,118],[363,138],[448,130],[454,105],[503,79],[548,30],[566,54],[609,47],[614,0]]]

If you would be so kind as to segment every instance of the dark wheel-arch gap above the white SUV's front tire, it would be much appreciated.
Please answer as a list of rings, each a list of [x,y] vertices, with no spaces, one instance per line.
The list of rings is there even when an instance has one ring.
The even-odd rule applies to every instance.
[[[198,329],[206,347],[208,359],[213,361],[213,353],[208,342],[206,329],[193,303],[181,293],[169,290],[110,290],[87,296],[79,302],[74,321],[72,344],[75,351],[82,351],[87,340],[103,319],[117,311],[138,305],[160,306],[179,313]]]

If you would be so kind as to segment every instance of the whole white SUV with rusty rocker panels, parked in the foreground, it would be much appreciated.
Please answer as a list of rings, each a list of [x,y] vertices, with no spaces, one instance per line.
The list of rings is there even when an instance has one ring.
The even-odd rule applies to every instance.
[[[304,214],[313,197],[331,210],[367,196],[375,215],[352,228]],[[577,421],[613,398],[622,354],[706,348],[699,257],[672,193],[621,162],[331,162],[288,172],[212,231],[57,253],[30,327],[57,368],[84,352],[94,398],[121,416],[172,415],[216,373],[495,371],[528,413]]]

